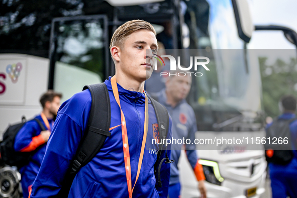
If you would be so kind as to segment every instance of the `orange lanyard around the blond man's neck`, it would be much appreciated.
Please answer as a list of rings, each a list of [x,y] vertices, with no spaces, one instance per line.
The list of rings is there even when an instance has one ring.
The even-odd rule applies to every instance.
[[[145,142],[146,142],[146,135],[147,135],[147,129],[148,129],[148,100],[147,100],[147,95],[145,94],[145,114],[144,114],[144,129],[143,129],[143,139],[142,139],[142,145],[141,145],[141,151],[140,151],[140,156],[139,156],[139,161],[138,161],[138,169],[137,169],[137,175],[136,175],[136,180],[134,183],[134,186],[132,188],[131,184],[131,165],[130,165],[130,152],[129,152],[129,143],[128,143],[128,135],[127,135],[127,126],[126,126],[126,120],[124,113],[121,108],[121,103],[120,103],[120,97],[119,97],[119,90],[117,86],[117,80],[116,76],[113,76],[111,78],[112,82],[112,88],[113,92],[116,98],[116,101],[121,109],[121,123],[122,123],[122,138],[123,138],[123,151],[124,151],[124,160],[125,160],[125,168],[126,168],[126,178],[127,178],[127,185],[128,185],[128,191],[129,191],[129,197],[132,198],[132,193],[135,187],[135,184],[137,182],[137,179],[139,177],[140,169],[141,169],[141,164],[142,164],[142,159],[143,159],[143,154],[144,154],[144,147],[145,147]]]

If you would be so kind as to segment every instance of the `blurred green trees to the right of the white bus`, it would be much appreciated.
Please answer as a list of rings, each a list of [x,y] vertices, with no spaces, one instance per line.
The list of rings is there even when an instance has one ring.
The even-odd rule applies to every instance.
[[[274,118],[280,114],[278,101],[283,95],[297,97],[297,64],[294,58],[288,63],[280,59],[272,65],[267,65],[266,62],[266,57],[259,57],[263,106],[266,116]]]

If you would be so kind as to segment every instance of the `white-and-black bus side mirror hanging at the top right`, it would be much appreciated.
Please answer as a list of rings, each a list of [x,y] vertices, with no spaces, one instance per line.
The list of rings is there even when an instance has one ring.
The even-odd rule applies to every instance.
[[[248,43],[254,31],[248,0],[232,0],[239,38]]]

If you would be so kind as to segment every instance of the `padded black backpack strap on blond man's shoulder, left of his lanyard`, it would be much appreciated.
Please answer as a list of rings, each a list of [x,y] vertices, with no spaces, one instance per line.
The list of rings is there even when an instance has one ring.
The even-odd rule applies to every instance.
[[[86,165],[101,149],[105,139],[111,135],[111,105],[107,86],[105,83],[91,84],[83,87],[91,92],[92,103],[88,126],[77,149],[72,163],[72,171]]]

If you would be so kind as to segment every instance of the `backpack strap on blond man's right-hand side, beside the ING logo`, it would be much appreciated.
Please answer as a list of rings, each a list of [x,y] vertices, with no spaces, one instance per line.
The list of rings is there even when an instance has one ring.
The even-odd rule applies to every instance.
[[[158,122],[158,126],[159,126],[159,139],[166,139],[167,134],[168,134],[168,129],[169,129],[169,114],[167,112],[167,109],[163,105],[158,103],[152,97],[150,97],[150,100],[151,100],[152,106],[153,106],[153,108],[155,110],[155,114],[156,114],[156,118],[157,118],[157,122]],[[159,142],[161,142],[161,141],[159,141]],[[158,155],[157,155],[157,161],[154,164],[154,171],[155,171],[155,173],[158,173],[158,185],[159,185],[159,187],[162,187],[161,166],[162,166],[163,161],[165,160],[165,163],[174,162],[174,160],[169,159],[169,157],[167,155],[166,145],[164,144],[164,146],[165,146],[165,158],[163,158],[160,161],[161,152],[163,150],[163,144],[160,144],[159,145]]]

